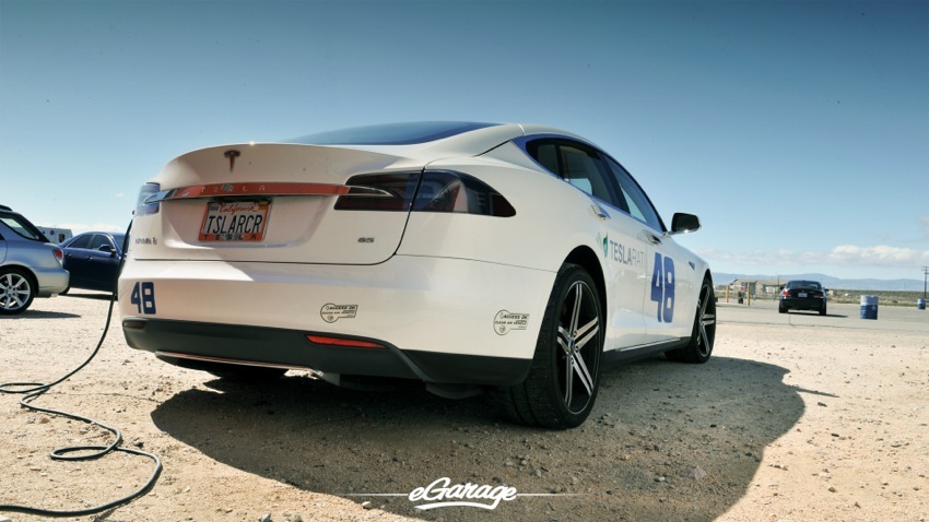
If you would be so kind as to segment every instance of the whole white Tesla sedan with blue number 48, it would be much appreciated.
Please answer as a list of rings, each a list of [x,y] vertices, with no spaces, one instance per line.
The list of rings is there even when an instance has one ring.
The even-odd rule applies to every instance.
[[[119,277],[133,348],[223,378],[491,389],[573,427],[601,368],[713,351],[709,268],[632,176],[534,124],[415,122],[184,154],[142,187]]]

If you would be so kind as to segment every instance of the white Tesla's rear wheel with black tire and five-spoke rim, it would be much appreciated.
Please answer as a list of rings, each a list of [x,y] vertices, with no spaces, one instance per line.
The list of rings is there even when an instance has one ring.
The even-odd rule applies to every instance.
[[[555,277],[526,380],[499,391],[514,420],[573,428],[593,410],[600,387],[603,309],[590,275],[564,264]]]

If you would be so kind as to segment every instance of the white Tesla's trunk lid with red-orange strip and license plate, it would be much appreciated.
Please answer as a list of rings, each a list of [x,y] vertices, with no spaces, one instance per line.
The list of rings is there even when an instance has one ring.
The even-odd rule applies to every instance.
[[[353,176],[377,173],[392,179],[392,187],[399,182],[400,190],[409,190],[422,167],[403,156],[338,146],[242,144],[193,151],[168,163],[153,180],[158,191],[140,204],[146,212],[137,212],[133,256],[379,263],[397,250],[409,204],[357,211],[337,210],[336,203],[339,198],[391,197],[383,188],[350,187]]]

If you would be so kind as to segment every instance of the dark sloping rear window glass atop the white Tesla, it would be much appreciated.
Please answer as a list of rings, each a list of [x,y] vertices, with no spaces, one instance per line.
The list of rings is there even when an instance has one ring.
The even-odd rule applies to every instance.
[[[304,145],[415,145],[497,124],[471,121],[386,123],[319,132],[286,142]]]

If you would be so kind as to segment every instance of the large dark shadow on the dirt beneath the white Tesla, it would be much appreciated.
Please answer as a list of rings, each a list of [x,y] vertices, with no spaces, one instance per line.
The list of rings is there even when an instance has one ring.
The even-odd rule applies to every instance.
[[[612,368],[587,423],[564,431],[510,424],[484,398],[448,401],[412,385],[357,392],[302,375],[260,387],[209,381],[152,418],[247,473],[425,520],[487,520],[477,508],[415,510],[407,495],[440,477],[545,495],[502,503],[496,520],[713,520],[803,413],[804,390],[785,373],[727,357]]]

